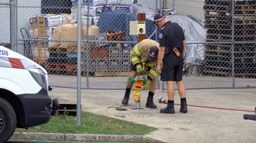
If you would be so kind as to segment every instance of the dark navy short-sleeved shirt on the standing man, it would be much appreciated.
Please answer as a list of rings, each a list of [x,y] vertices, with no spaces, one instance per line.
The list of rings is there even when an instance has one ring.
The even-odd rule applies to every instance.
[[[183,40],[185,40],[183,30],[180,25],[167,21],[159,34],[160,47],[165,47],[165,54],[173,52],[176,47],[180,52],[184,50]]]

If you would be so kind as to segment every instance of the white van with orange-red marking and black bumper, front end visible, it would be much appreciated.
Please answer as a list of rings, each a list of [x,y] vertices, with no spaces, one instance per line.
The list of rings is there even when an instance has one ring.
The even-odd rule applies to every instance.
[[[48,123],[52,105],[48,96],[47,71],[25,56],[0,46],[0,143],[7,141],[15,128]],[[53,107],[52,107],[53,106]]]

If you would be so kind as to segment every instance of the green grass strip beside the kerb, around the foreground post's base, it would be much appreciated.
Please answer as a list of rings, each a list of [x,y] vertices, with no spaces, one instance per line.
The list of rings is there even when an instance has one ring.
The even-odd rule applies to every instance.
[[[76,117],[69,117],[67,112],[51,118],[47,124],[30,127],[28,130],[16,128],[16,132],[51,132],[80,134],[116,134],[144,135],[157,128],[136,124],[90,112],[81,111],[81,126],[76,125]]]

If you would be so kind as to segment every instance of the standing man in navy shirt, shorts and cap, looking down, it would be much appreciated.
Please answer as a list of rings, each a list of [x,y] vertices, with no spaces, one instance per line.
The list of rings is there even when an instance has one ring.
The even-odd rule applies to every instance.
[[[178,92],[181,98],[180,112],[187,112],[186,90],[182,82],[183,55],[185,51],[185,37],[183,29],[177,23],[168,21],[164,14],[157,14],[154,17],[154,23],[161,28],[159,34],[159,53],[157,73],[161,73],[161,80],[166,81],[168,103],[167,107],[161,109],[161,113],[175,113],[174,109],[174,81],[178,86]],[[162,70],[160,69],[163,61]]]

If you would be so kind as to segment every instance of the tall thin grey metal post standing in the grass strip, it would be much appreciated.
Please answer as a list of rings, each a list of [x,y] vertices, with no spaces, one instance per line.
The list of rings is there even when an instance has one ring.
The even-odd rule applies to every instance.
[[[77,125],[81,125],[81,1],[77,9]]]

